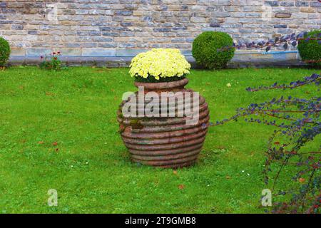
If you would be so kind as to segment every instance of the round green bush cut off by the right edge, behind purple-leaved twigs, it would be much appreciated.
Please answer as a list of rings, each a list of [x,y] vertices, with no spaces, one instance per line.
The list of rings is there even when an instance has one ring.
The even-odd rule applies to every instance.
[[[321,30],[310,31],[302,40],[299,40],[297,49],[299,49],[299,53],[303,61],[321,60],[321,43],[320,40],[317,40],[317,38],[320,38],[320,33]],[[306,40],[305,38],[307,37],[310,38]],[[321,62],[313,64],[321,66]]]

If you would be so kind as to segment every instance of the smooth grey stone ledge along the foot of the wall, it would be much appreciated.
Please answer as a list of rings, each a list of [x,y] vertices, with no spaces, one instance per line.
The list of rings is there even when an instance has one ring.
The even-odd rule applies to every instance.
[[[128,67],[131,56],[60,56],[59,58],[67,66],[106,66],[108,68]],[[198,68],[195,59],[190,54],[185,57]],[[40,56],[11,56],[9,65],[34,66],[41,63]],[[228,68],[267,67],[267,66],[306,66],[301,61],[297,51],[273,51],[262,53],[258,51],[237,51]]]

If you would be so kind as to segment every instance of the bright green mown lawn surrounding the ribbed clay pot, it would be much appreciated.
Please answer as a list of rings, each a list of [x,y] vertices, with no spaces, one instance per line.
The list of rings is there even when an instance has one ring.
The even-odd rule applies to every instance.
[[[249,93],[248,86],[289,83],[314,72],[194,70],[188,88],[206,98],[214,122],[280,95]],[[210,128],[199,162],[177,173],[138,166],[129,160],[116,121],[121,96],[131,90],[136,88],[128,69],[1,72],[0,213],[264,212],[264,151],[273,127],[238,121]],[[58,207],[47,205],[49,189],[58,191]]]

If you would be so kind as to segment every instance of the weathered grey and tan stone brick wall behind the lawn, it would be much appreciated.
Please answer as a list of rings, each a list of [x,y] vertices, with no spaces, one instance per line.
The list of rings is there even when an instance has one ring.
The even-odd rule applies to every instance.
[[[146,48],[190,53],[202,31],[235,41],[321,26],[320,1],[56,0],[0,1],[0,36],[12,56],[132,56]]]

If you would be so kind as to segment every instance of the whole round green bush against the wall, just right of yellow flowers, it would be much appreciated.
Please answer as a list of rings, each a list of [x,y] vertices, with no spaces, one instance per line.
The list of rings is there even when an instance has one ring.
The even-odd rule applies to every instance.
[[[228,33],[205,31],[193,41],[193,57],[203,68],[225,68],[234,52],[233,39]]]

